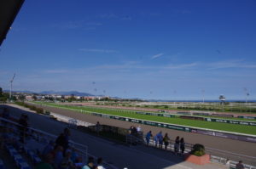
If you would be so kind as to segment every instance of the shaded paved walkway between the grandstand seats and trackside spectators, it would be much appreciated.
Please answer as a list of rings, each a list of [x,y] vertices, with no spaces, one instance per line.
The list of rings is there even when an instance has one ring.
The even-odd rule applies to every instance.
[[[17,107],[17,106],[15,106]],[[23,109],[23,108],[21,108]],[[44,115],[37,115],[29,111],[12,108],[11,115],[20,117],[21,113],[29,116],[31,127],[38,128],[44,132],[58,135],[64,127],[62,122],[53,121]],[[181,157],[172,155],[160,149],[148,148],[143,145],[125,146],[115,144],[102,138],[91,136],[78,130],[72,130],[71,139],[79,144],[89,147],[88,152],[91,155],[102,156],[102,158],[119,169],[127,167],[128,169],[224,169],[224,165],[210,163],[205,166],[197,166],[183,161]]]

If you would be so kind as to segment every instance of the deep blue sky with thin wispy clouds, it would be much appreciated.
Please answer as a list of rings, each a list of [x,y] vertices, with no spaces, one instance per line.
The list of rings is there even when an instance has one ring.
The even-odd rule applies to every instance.
[[[26,0],[0,87],[16,73],[14,90],[256,99],[255,30],[255,0]]]

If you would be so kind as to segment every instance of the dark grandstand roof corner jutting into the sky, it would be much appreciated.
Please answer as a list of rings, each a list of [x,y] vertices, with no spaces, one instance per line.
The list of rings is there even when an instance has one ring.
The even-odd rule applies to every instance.
[[[20,7],[25,0],[1,0],[0,1],[0,46],[13,24]]]

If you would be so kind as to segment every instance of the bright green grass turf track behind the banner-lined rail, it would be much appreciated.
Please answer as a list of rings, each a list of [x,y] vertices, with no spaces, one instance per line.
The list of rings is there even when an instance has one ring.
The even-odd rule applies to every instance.
[[[253,134],[256,135],[256,127],[253,126],[244,126],[244,125],[236,125],[236,124],[229,124],[229,123],[221,123],[221,122],[211,122],[211,121],[195,121],[195,120],[187,120],[181,118],[167,118],[162,116],[154,116],[154,115],[138,115],[132,111],[125,111],[122,112],[121,110],[108,110],[102,108],[94,108],[94,107],[85,107],[85,106],[72,106],[72,105],[61,105],[61,104],[52,104],[52,103],[39,103],[45,105],[53,105],[59,108],[69,108],[73,110],[87,110],[97,113],[104,113],[108,115],[119,115],[125,117],[131,117],[136,119],[148,120],[148,121],[159,121],[165,122],[170,124],[177,124],[183,125],[188,127],[201,127],[207,129],[214,129],[220,131],[227,131],[227,132],[240,132],[245,134]]]

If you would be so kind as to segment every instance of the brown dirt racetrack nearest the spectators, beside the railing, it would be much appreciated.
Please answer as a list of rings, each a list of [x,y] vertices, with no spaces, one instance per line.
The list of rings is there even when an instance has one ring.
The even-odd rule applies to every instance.
[[[129,128],[131,126],[138,126],[137,123],[118,121],[95,115],[81,114],[77,111],[72,110],[63,110],[59,108],[53,108],[42,105],[40,105],[40,107],[43,107],[44,110],[49,110],[50,112],[54,112],[59,115],[66,115],[74,119],[87,121],[94,124],[96,124],[96,121],[100,121],[101,124],[110,125],[114,127]],[[205,145],[207,152],[211,155],[218,155],[236,161],[242,160],[244,162],[247,162],[247,164],[252,164],[256,166],[256,144],[232,140],[229,138],[218,138],[213,136],[201,135],[191,132],[182,132],[160,127],[151,127],[147,125],[140,126],[142,127],[144,134],[149,130],[153,132],[153,135],[160,131],[162,131],[163,133],[167,132],[172,140],[179,136],[180,138],[184,138],[186,143]]]

